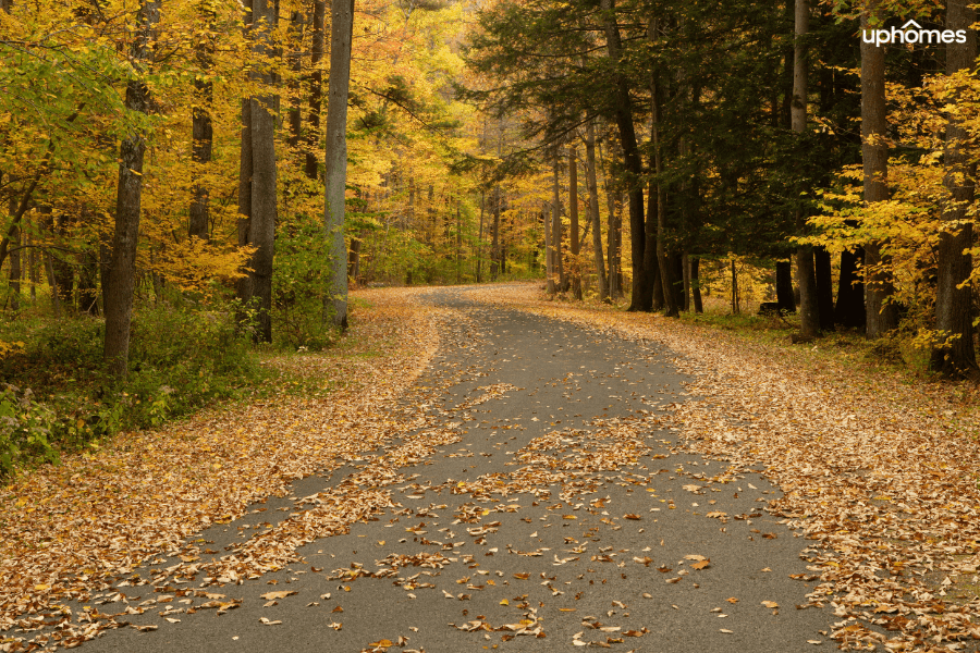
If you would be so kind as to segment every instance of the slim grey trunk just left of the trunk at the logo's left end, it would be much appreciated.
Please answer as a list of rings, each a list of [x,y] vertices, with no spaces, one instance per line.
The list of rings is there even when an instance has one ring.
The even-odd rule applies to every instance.
[[[807,34],[810,28],[810,3],[796,0],[796,45],[793,53],[793,103],[789,107],[791,126],[797,134],[807,128]],[[799,229],[806,217],[796,212]],[[799,276],[800,335],[816,337],[820,332],[820,305],[817,295],[817,271],[813,264],[813,248],[801,246],[796,250],[796,270]]]

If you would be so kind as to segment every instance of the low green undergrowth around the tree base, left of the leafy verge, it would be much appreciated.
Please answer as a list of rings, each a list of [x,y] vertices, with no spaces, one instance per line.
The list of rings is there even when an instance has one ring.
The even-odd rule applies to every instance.
[[[127,380],[105,371],[101,320],[22,313],[0,341],[23,343],[0,358],[0,477],[58,463],[123,429],[187,415],[265,378],[234,311],[140,307],[134,316]],[[24,390],[20,390],[24,389]]]

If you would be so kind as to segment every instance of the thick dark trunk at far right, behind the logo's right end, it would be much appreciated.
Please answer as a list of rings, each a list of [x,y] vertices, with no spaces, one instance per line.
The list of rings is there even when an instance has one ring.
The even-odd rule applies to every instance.
[[[947,0],[946,29],[965,29],[967,39],[965,44],[946,45],[946,74],[973,67],[977,58],[977,36],[970,29],[973,21],[973,9],[968,0]],[[953,97],[948,101],[954,104],[964,100]],[[977,370],[972,288],[967,281],[973,267],[968,252],[973,232],[967,213],[973,204],[977,163],[969,145],[969,134],[960,125],[956,113],[951,111],[947,120],[943,184],[950,192],[950,201],[943,211],[946,226],[940,233],[935,288],[935,329],[945,342],[933,345],[929,368],[953,377]]]

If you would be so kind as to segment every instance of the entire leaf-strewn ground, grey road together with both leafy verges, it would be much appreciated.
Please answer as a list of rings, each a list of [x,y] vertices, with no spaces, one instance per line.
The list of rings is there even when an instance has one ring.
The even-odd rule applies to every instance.
[[[340,390],[0,490],[0,651],[976,650],[948,389],[532,284],[359,296],[362,345],[270,361]]]

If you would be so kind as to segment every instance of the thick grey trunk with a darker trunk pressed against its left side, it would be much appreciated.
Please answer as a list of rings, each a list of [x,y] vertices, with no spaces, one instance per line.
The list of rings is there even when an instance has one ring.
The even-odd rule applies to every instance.
[[[272,29],[275,26],[274,0],[252,0],[255,51],[272,57]],[[279,195],[275,169],[275,95],[273,76],[268,71],[256,73],[267,93],[252,98],[252,220],[248,241],[256,250],[252,256],[252,299],[257,310],[255,338],[272,342],[272,256]],[[344,257],[346,263],[346,257]],[[345,266],[346,267],[346,266]],[[345,276],[346,278],[346,276]]]

